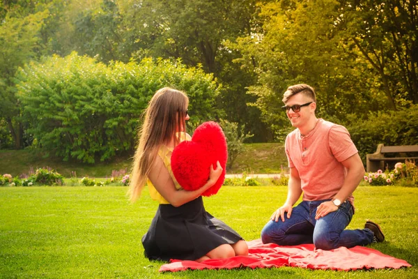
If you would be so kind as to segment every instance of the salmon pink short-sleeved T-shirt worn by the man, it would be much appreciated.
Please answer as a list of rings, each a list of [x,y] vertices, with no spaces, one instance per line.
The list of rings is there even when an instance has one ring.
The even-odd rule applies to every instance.
[[[304,201],[332,199],[347,173],[341,162],[358,152],[345,127],[323,119],[308,135],[299,129],[289,133],[285,149],[288,166],[299,172]],[[353,199],[347,200],[353,204]]]

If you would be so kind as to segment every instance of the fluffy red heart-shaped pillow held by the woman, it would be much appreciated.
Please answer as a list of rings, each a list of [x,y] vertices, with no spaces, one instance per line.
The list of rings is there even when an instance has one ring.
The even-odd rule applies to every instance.
[[[209,179],[210,164],[222,166],[222,174],[216,183],[203,192],[203,196],[215,195],[225,180],[228,149],[219,124],[208,121],[196,128],[191,141],[180,142],[171,154],[171,169],[174,177],[185,190],[196,190]]]

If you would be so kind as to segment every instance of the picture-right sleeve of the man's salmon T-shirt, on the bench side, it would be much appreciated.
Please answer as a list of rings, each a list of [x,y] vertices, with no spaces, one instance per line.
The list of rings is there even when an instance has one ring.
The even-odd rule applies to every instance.
[[[351,156],[358,153],[353,140],[351,140],[350,133],[346,127],[341,125],[334,125],[329,133],[330,149],[334,157],[339,162],[347,160]]]

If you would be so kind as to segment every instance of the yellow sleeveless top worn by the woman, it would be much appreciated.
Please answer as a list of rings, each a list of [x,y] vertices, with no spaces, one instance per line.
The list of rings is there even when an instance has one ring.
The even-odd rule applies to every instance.
[[[192,137],[190,137],[189,134],[182,132],[180,135],[180,142],[183,142],[185,140],[192,140]],[[169,171],[169,174],[171,176],[171,179],[173,179],[174,186],[176,186],[177,190],[180,190],[182,187],[177,182],[176,178],[174,177],[173,171],[171,170],[171,153],[173,153],[172,147],[167,147],[165,145],[162,145],[160,147],[160,150],[158,151],[158,156],[162,158],[162,162],[164,162],[165,167]],[[147,180],[148,190],[150,192],[150,196],[152,199],[156,200],[160,204],[169,204],[160,193],[158,193],[157,189],[153,186],[153,183],[148,179]]]

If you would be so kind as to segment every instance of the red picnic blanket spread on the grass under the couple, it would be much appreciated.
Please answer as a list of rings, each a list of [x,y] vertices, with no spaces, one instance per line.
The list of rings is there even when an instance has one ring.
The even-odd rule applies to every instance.
[[[263,244],[261,239],[247,241],[248,256],[235,256],[228,259],[207,259],[203,262],[171,259],[169,264],[160,267],[162,271],[185,271],[187,269],[238,269],[241,267],[271,268],[296,266],[305,269],[332,269],[350,271],[356,269],[400,269],[411,265],[403,259],[382,254],[378,250],[355,246],[340,247],[326,251],[315,249],[314,244],[298,246],[278,246]]]

